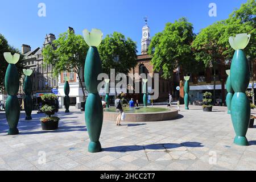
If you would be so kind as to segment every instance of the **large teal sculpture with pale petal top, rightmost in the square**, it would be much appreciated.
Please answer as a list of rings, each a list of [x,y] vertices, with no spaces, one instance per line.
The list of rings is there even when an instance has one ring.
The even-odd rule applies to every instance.
[[[250,102],[245,91],[250,82],[250,70],[243,49],[250,41],[250,35],[238,34],[236,38],[230,37],[230,46],[236,50],[230,69],[230,81],[234,90],[231,102],[231,118],[236,131],[234,143],[247,146],[246,133],[250,123]]]

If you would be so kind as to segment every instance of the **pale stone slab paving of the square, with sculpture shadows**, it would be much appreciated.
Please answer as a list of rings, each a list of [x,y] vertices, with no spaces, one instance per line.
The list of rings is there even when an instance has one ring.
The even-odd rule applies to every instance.
[[[164,106],[165,107],[165,106]],[[254,110],[252,112],[255,113]],[[19,135],[8,136],[5,113],[0,113],[1,170],[256,170],[256,128],[249,129],[250,146],[233,144],[235,137],[226,107],[205,113],[201,106],[184,110],[179,118],[161,122],[104,121],[100,142],[104,151],[90,154],[84,112],[57,114],[59,130],[42,131],[32,113]],[[46,159],[46,160],[44,160]],[[44,163],[45,162],[45,163]]]

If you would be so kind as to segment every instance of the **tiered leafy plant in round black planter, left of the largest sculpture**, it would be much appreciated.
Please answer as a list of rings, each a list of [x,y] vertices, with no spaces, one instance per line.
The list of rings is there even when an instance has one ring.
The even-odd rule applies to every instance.
[[[42,130],[56,130],[59,126],[60,118],[52,116],[55,114],[55,100],[57,96],[55,94],[48,94],[41,97],[45,105],[41,108],[42,112],[47,115],[47,117],[42,118],[41,126]]]

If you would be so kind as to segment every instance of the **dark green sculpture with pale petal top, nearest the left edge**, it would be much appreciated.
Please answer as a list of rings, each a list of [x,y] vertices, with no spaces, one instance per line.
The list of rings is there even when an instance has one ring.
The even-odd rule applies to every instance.
[[[9,63],[5,74],[5,88],[8,93],[8,98],[5,105],[6,119],[9,124],[9,135],[19,134],[17,128],[20,115],[20,104],[17,97],[19,91],[19,74],[15,64],[19,61],[20,55],[10,52],[3,53],[5,60]]]

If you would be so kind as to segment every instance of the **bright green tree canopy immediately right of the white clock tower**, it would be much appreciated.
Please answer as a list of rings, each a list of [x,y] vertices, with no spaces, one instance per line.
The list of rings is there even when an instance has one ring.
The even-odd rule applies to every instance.
[[[162,71],[164,78],[170,78],[174,69],[181,67],[184,72],[195,68],[191,44],[195,34],[193,25],[181,18],[175,23],[167,23],[162,32],[151,41],[148,53],[152,55],[151,63],[155,71]]]

